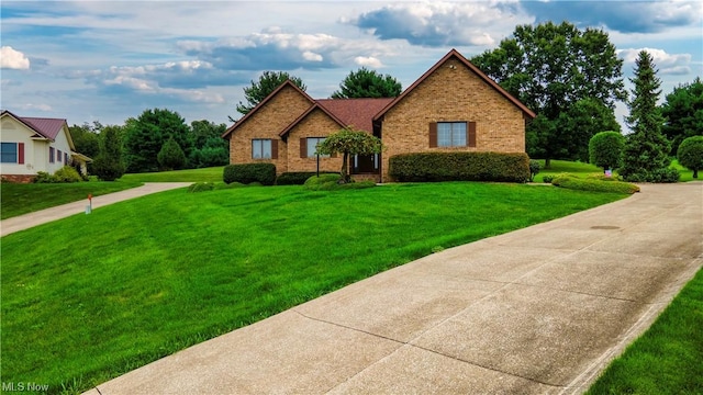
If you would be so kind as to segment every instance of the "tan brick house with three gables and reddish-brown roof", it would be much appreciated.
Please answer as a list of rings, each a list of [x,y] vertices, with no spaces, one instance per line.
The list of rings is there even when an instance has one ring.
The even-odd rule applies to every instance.
[[[314,171],[315,144],[345,126],[379,137],[381,155],[349,159],[355,178],[392,181],[389,158],[426,151],[525,151],[525,122],[535,113],[456,49],[398,98],[314,100],[281,84],[223,135],[230,162],[271,162],[277,173]],[[337,171],[339,157],[320,159]]]

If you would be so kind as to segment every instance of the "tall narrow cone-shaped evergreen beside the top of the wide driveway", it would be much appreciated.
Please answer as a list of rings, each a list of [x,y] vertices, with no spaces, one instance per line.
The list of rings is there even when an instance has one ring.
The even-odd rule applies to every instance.
[[[623,150],[621,176],[631,181],[662,181],[669,163],[669,142],[661,133],[665,119],[657,106],[661,80],[657,77],[654,59],[641,50],[635,61],[633,99],[628,102],[626,122],[633,133],[627,136]],[[668,181],[663,177],[663,181]],[[677,177],[678,179],[678,177]]]

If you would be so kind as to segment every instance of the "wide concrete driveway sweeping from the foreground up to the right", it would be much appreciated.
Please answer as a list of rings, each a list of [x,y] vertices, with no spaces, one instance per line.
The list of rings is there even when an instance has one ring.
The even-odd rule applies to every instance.
[[[389,270],[88,394],[580,393],[702,264],[703,183],[645,184]]]

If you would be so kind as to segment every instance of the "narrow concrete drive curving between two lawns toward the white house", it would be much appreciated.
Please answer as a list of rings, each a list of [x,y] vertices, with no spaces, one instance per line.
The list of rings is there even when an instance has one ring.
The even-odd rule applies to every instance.
[[[94,196],[92,199],[92,208],[100,208],[108,204],[144,196],[156,192],[185,188],[190,185],[191,183],[192,182],[147,182],[142,187]],[[33,226],[46,224],[52,221],[66,218],[79,213],[85,213],[87,205],[88,199],[0,221],[0,237],[15,232],[24,230]]]

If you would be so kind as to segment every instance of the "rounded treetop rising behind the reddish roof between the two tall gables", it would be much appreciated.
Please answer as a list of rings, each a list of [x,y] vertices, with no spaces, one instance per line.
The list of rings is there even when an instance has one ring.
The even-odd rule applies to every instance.
[[[395,98],[402,90],[401,83],[392,76],[361,67],[349,72],[339,90],[332,93],[332,99]]]

